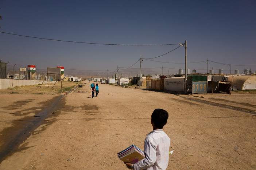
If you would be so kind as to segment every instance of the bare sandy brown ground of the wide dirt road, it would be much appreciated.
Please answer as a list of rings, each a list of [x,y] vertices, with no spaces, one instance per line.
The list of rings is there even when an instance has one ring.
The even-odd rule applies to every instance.
[[[167,169],[256,169],[256,94],[187,96],[99,84],[92,99],[86,83],[80,88],[84,93],[65,95],[52,116],[26,133],[0,170],[127,169],[117,152],[132,144],[143,149],[156,108],[169,113],[163,130],[174,152]],[[6,128],[29,120],[60,96],[2,91],[0,139],[12,135]]]

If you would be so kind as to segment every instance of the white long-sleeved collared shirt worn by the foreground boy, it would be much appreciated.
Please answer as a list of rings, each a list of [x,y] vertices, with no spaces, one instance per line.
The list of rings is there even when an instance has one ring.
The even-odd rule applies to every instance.
[[[135,170],[165,170],[169,161],[170,138],[163,129],[147,134],[144,142],[145,158],[133,164]]]

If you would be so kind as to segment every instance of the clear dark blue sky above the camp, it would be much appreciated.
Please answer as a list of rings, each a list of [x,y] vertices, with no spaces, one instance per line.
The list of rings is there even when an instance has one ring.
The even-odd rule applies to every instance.
[[[0,31],[102,44],[179,44],[187,40],[190,71],[206,73],[209,58],[214,73],[218,69],[229,73],[229,65],[215,62],[231,64],[231,73],[235,69],[241,73],[256,70],[255,7],[255,0],[1,0]],[[18,67],[36,65],[37,70],[64,66],[65,70],[114,71],[117,66],[132,66],[140,56],[157,57],[178,46],[95,45],[0,33],[2,62]],[[143,60],[142,69],[162,73],[163,66],[164,74],[168,70],[178,73],[185,69],[185,49],[181,46],[152,60],[160,62]],[[139,62],[132,66],[139,67]]]

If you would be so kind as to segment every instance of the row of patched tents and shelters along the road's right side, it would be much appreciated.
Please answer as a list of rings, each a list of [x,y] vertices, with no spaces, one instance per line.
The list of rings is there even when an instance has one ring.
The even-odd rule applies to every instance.
[[[184,92],[185,77],[163,79],[146,78],[147,89]],[[222,75],[188,75],[186,90],[188,93],[227,92],[229,86],[233,90],[256,90],[256,76],[222,76]]]

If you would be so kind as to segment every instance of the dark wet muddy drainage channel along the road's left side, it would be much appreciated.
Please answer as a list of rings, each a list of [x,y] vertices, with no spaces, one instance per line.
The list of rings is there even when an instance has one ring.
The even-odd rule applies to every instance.
[[[38,108],[26,109],[28,112],[23,114],[23,116],[29,113],[35,113],[35,115],[26,116],[22,119],[11,121],[10,124],[12,124],[12,126],[3,129],[3,131],[0,132],[1,143],[3,143],[3,145],[0,147],[0,163],[12,153],[21,150],[18,149],[19,145],[30,135],[33,135],[33,131],[36,128],[42,124],[51,124],[53,122],[48,122],[46,119],[57,116],[58,112],[65,107],[65,101],[63,101],[64,99],[62,97],[63,95],[57,96],[50,101],[44,102],[44,107],[40,108],[40,110],[37,110]],[[26,105],[29,102],[31,101],[18,101],[8,106],[8,108],[17,109],[20,105]],[[24,111],[25,110],[19,110],[11,114],[20,116]]]

